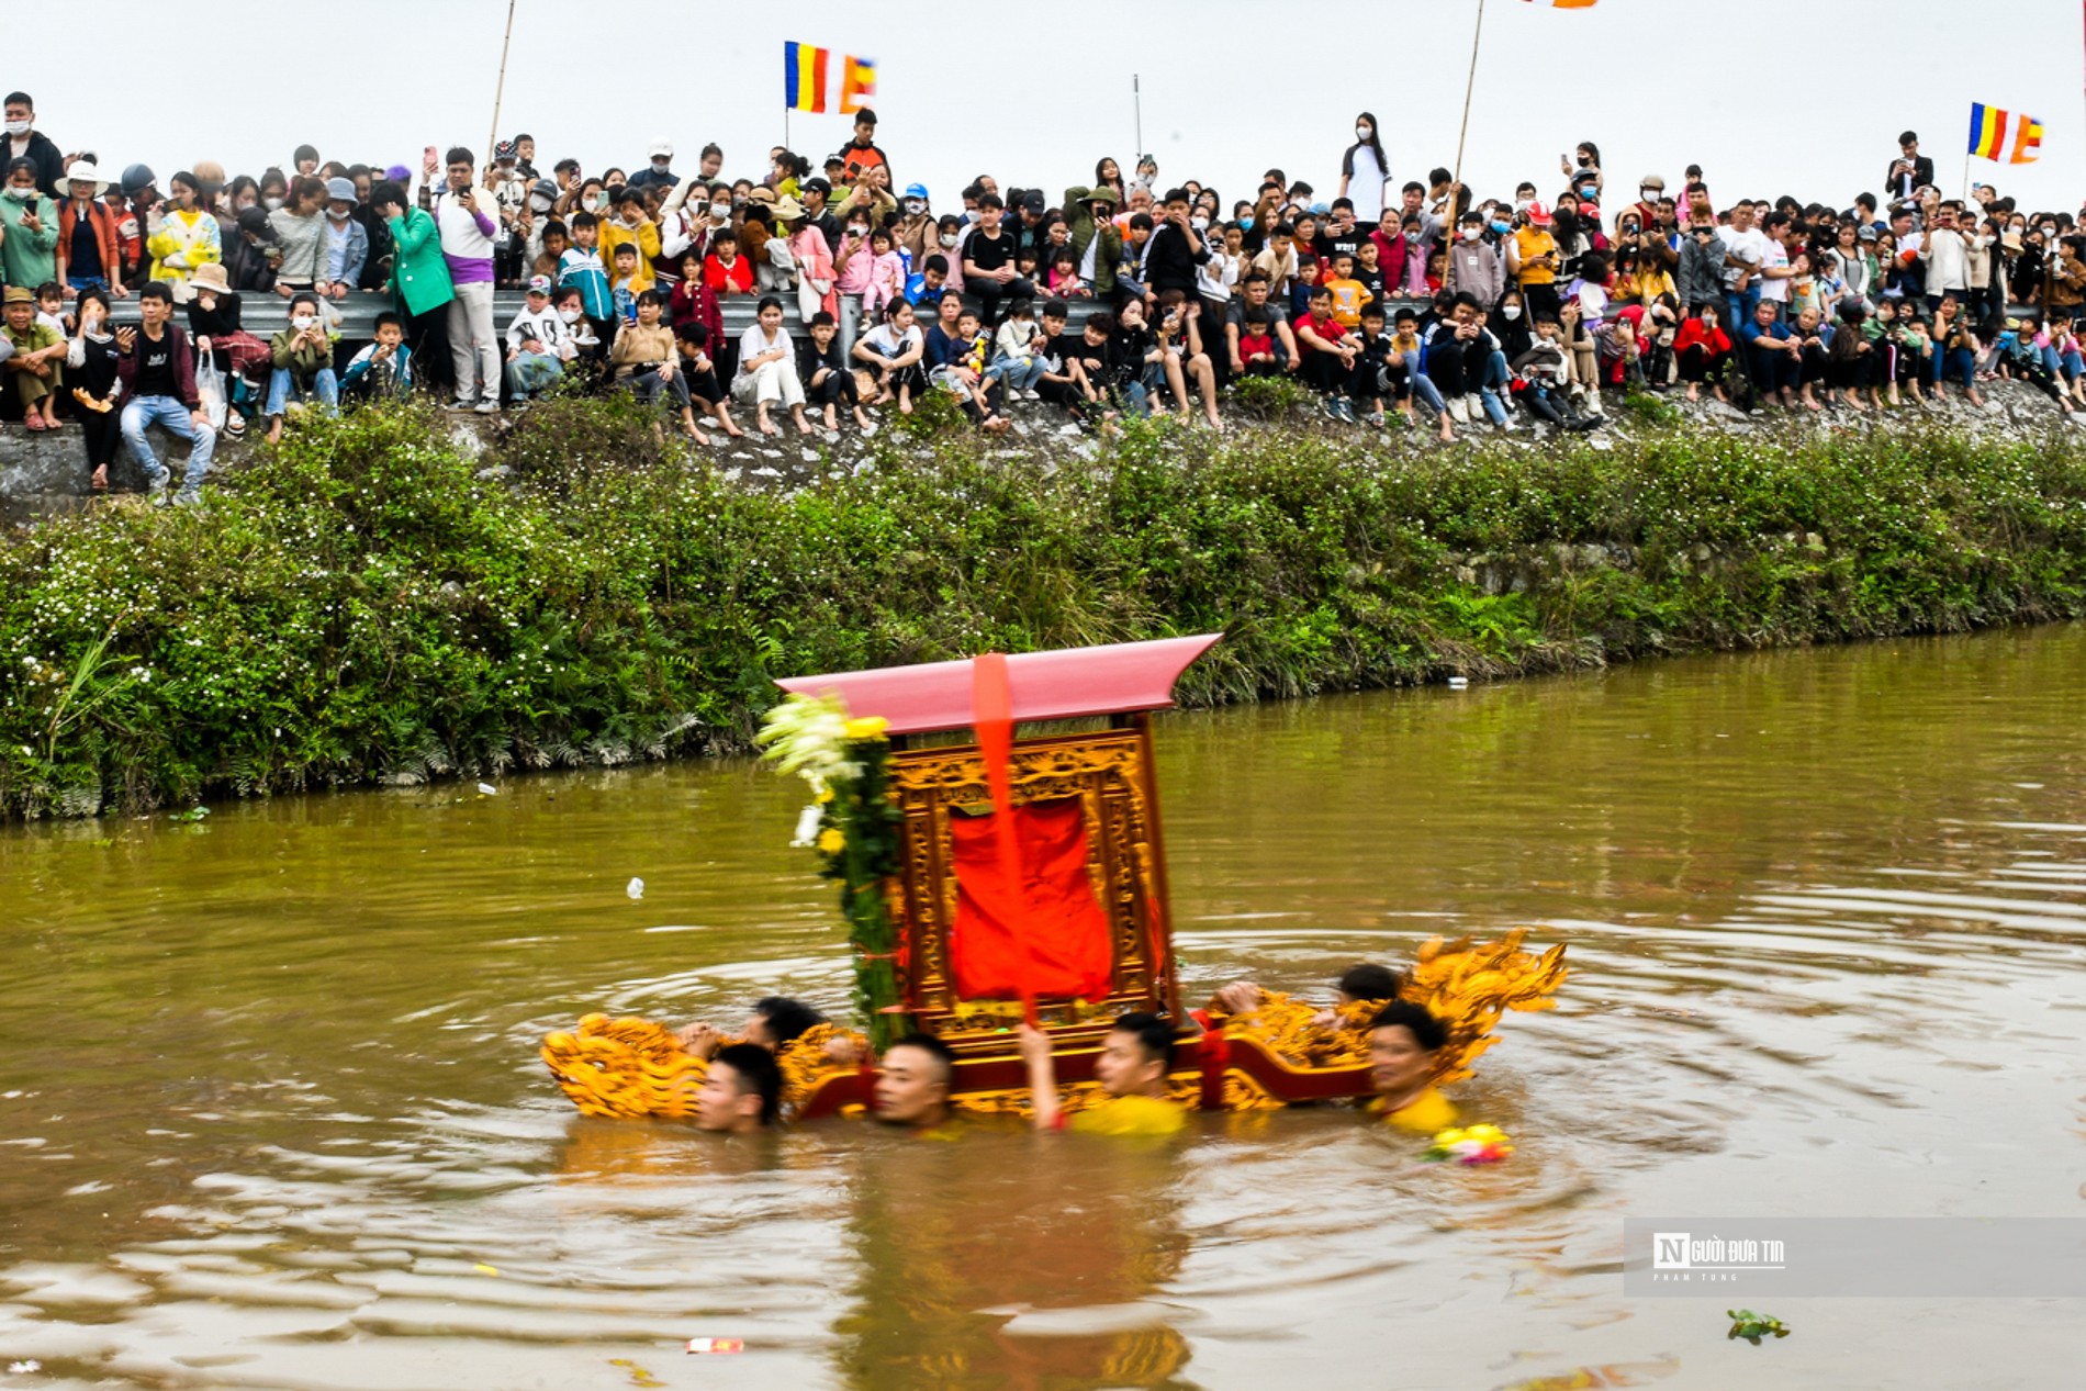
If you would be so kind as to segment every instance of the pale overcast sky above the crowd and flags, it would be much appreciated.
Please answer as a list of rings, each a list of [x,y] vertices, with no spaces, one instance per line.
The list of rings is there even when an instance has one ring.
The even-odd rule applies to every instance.
[[[8,46],[6,88],[38,100],[63,150],[161,175],[202,158],[232,173],[288,167],[309,142],[328,158],[419,163],[426,144],[484,150],[507,0],[265,4],[179,38],[165,4],[102,0],[94,29],[159,35],[148,69],[111,50],[86,67],[65,46]],[[1700,163],[1719,204],[1777,196],[1848,204],[1875,190],[1913,127],[1950,194],[1963,186],[1969,102],[2036,115],[2042,158],[1971,161],[2028,206],[2078,209],[2086,192],[2086,35],[2073,0],[1600,0],[1552,10],[1487,0],[1471,117],[1469,181],[1550,198],[1558,154],[1602,150],[1610,194],[1658,171],[1679,188]],[[1095,6],[955,6],[935,35],[914,4],[795,0],[789,6],[517,0],[501,136],[536,136],[538,167],[572,154],[588,173],[632,169],[663,133],[695,165],[707,140],[728,175],[759,177],[782,142],[784,40],[878,60],[878,144],[899,181],[937,206],[991,171],[1003,188],[1087,184],[1101,154],[1135,158],[1131,75],[1143,81],[1143,140],[1162,184],[1199,177],[1227,204],[1268,165],[1320,190],[1337,184],[1354,115],[1375,111],[1396,179],[1456,154],[1477,0],[1145,0]],[[67,21],[44,10],[44,23]],[[225,13],[227,17],[232,10]],[[682,15],[682,19],[659,19]],[[703,23],[722,19],[722,23]],[[38,71],[23,71],[35,52]],[[1120,54],[1120,56],[1118,56]],[[1164,54],[1133,58],[1129,54]],[[1364,63],[1362,58],[1368,56]],[[67,83],[58,73],[92,73]],[[44,75],[50,73],[50,75]],[[1969,79],[1965,73],[1990,73]],[[834,86],[839,71],[834,71]],[[238,111],[238,102],[246,102]],[[820,163],[847,119],[791,119],[791,146]],[[1612,202],[1612,198],[1610,198]]]

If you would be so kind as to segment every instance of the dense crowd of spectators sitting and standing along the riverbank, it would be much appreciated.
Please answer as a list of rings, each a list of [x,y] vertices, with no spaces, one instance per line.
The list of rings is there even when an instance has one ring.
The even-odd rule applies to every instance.
[[[1268,169],[1229,202],[1141,156],[1060,196],[978,175],[937,206],[897,184],[872,111],[818,167],[772,148],[759,177],[726,177],[715,144],[695,169],[674,158],[653,140],[634,171],[538,169],[517,136],[484,167],[467,148],[378,165],[300,146],[259,177],[202,161],[161,179],[60,152],[8,94],[0,419],[77,421],[94,488],[127,446],[154,492],[159,423],[194,442],[194,498],[221,432],[275,438],[292,407],[415,390],[484,415],[628,390],[703,442],[747,413],[761,434],[874,430],[926,392],[991,432],[1014,402],[1076,428],[1174,411],[1222,430],[1227,388],[1252,377],[1444,440],[1592,430],[1604,390],[1869,411],[1980,402],[2011,375],[2086,405],[2086,225],[1992,186],[1942,196],[1913,131],[1846,206],[1719,200],[1700,167],[1610,194],[1592,142],[1550,192],[1398,181],[1371,113],[1337,186]],[[522,292],[505,325],[496,290]],[[242,304],[271,296],[288,321],[263,340]],[[736,336],[732,300],[755,307]],[[367,327],[344,340],[357,309]]]

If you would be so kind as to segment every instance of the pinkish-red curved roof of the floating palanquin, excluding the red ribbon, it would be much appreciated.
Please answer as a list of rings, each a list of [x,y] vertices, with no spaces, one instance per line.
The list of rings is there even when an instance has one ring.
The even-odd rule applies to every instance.
[[[1172,686],[1181,672],[1210,651],[1220,636],[1224,634],[1208,632],[1193,638],[1160,638],[1158,642],[1016,653],[1008,657],[1014,719],[1081,719],[1170,709]],[[839,694],[851,717],[882,715],[891,722],[893,734],[966,730],[974,722],[970,665],[966,657],[964,661],[930,661],[918,667],[793,676],[776,686],[791,694]]]

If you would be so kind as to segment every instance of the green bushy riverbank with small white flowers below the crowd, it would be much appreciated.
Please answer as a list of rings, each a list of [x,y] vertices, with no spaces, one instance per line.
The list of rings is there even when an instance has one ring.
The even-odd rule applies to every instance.
[[[365,411],[0,540],[0,813],[741,747],[772,676],[985,649],[1222,628],[1208,703],[2076,617],[2073,440],[887,432],[784,494],[617,402]]]

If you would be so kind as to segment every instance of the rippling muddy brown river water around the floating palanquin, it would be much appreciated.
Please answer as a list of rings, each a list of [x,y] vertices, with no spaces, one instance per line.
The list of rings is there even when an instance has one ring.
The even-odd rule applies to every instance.
[[[1339,1109],[578,1118],[536,1041],[582,1011],[845,1009],[745,761],[10,828],[0,1387],[2086,1385],[2076,1299],[1790,1299],[1752,1347],[1621,1278],[1625,1216],[2086,1216],[2086,630],[1158,736],[1193,995],[1571,945],[1458,1091],[1508,1164]]]

